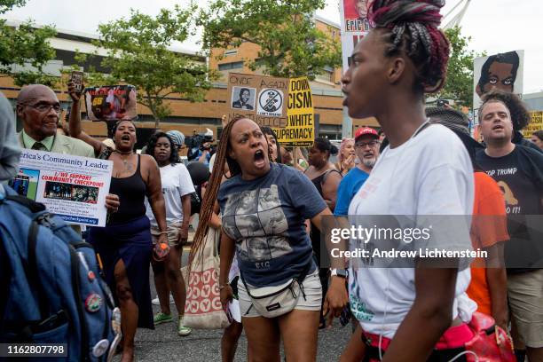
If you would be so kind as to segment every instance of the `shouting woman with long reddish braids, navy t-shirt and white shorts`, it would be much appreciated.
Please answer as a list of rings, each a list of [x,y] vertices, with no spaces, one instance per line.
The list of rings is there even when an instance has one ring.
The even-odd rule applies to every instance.
[[[220,185],[225,162],[231,177]],[[215,200],[222,214],[221,303],[226,308],[232,300],[228,274],[235,248],[249,359],[279,361],[283,340],[287,360],[315,360],[322,295],[304,221],[322,227],[324,216],[332,215],[327,205],[301,172],[270,161],[263,131],[243,117],[221,135],[191,262],[201,256]],[[339,316],[347,301],[344,279],[333,277],[325,308]]]

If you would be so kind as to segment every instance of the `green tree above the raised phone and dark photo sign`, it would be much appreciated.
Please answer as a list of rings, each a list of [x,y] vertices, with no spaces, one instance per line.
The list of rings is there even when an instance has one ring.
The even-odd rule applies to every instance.
[[[98,26],[95,45],[107,51],[102,67],[110,70],[109,79],[137,87],[138,102],[151,110],[156,128],[170,114],[164,103],[170,94],[202,101],[215,79],[206,64],[169,50],[172,43],[192,35],[195,10],[193,5],[185,10],[176,5],[153,18],[131,9],[130,18]]]

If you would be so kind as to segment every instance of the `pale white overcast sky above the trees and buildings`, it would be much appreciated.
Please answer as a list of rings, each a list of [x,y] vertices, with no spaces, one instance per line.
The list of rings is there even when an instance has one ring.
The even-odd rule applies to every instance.
[[[447,13],[460,0],[447,0]],[[4,14],[10,20],[33,19],[59,29],[96,34],[99,23],[128,15],[131,8],[156,14],[162,7],[188,4],[189,0],[28,0],[21,8]],[[201,0],[204,4],[205,0]],[[338,0],[327,0],[319,16],[339,24]],[[523,93],[543,91],[543,4],[541,0],[471,0],[460,25],[462,35],[470,36],[471,50],[487,54],[524,51]],[[181,44],[182,49],[198,51],[197,38]]]

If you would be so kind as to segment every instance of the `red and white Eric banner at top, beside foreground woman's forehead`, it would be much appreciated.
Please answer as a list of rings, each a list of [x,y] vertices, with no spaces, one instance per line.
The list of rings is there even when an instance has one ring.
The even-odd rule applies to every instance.
[[[371,0],[341,0],[343,73],[349,68],[349,58],[357,43],[374,28],[367,19],[367,7]]]

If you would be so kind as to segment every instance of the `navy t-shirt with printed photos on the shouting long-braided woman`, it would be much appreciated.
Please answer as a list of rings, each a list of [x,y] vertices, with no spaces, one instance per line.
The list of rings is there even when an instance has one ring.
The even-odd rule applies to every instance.
[[[301,172],[272,163],[264,177],[247,181],[237,175],[225,181],[217,199],[223,232],[235,240],[240,271],[249,285],[280,285],[313,263],[304,221],[327,204]]]

